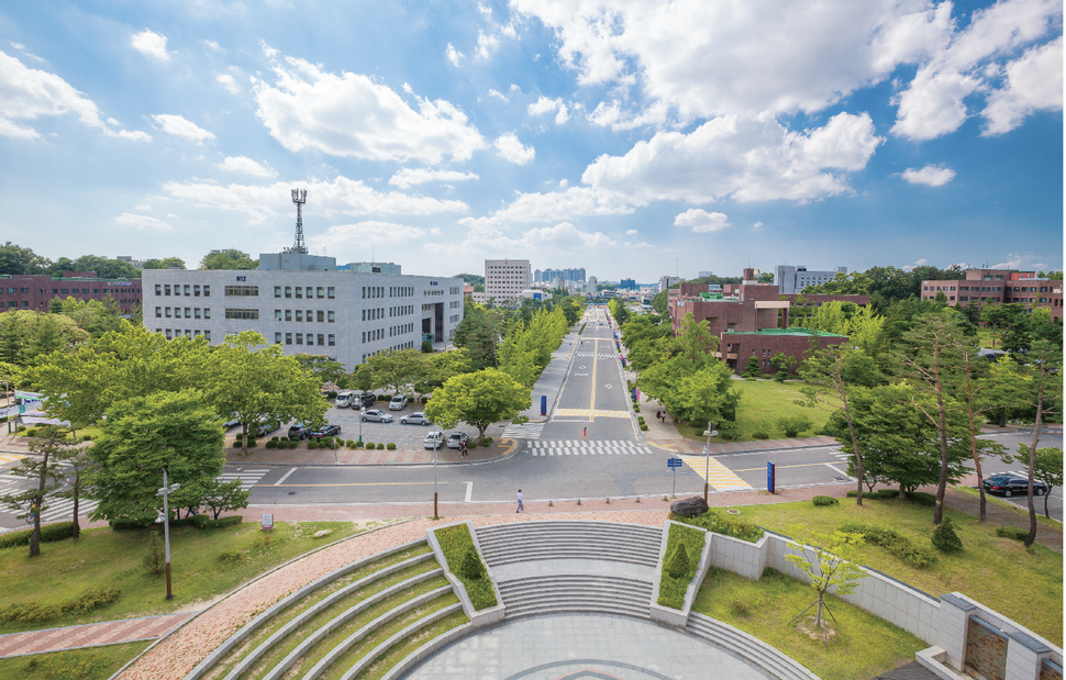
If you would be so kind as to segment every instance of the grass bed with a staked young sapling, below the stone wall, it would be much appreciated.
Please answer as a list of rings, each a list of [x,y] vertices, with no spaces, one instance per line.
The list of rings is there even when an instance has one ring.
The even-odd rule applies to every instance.
[[[811,638],[786,625],[818,599],[809,586],[784,575],[749,581],[712,569],[696,595],[692,611],[707,614],[749,633],[811,669],[823,680],[866,680],[914,660],[929,647],[907,631],[829,595],[837,636],[825,651],[821,636]],[[817,607],[815,607],[817,609]],[[814,609],[801,617],[806,620]],[[820,633],[820,632],[819,632]]]

